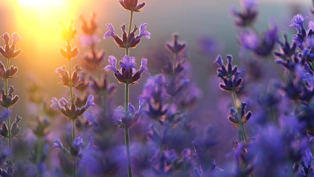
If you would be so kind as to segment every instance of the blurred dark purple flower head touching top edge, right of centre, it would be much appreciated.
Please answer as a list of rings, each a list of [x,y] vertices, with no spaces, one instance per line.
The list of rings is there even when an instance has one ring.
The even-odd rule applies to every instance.
[[[256,0],[240,0],[241,12],[232,10],[232,14],[237,18],[235,25],[238,27],[251,25],[257,16],[256,5]]]

